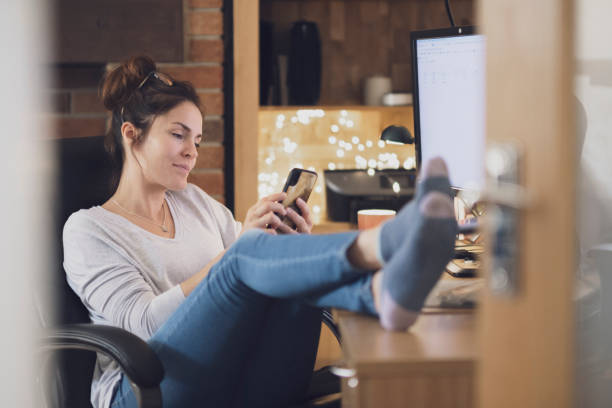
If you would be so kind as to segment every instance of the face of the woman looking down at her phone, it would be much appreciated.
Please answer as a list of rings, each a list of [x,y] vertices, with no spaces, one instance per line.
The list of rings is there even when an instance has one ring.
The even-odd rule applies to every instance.
[[[185,101],[157,116],[133,152],[148,184],[182,190],[195,166],[201,141],[202,114],[193,103]]]

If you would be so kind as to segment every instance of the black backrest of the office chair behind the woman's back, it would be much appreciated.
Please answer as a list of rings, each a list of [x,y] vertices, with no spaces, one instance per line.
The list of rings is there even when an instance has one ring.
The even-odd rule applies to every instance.
[[[55,310],[36,304],[43,327],[58,324],[88,323],[89,315],[81,300],[66,282],[63,268],[63,226],[70,214],[104,203],[111,195],[112,165],[104,150],[102,136],[57,139],[57,205],[54,217],[54,243],[57,263],[46,276],[47,289],[53,293]],[[39,297],[42,299],[42,297]],[[36,302],[36,300],[35,300]],[[90,407],[89,396],[95,354],[87,351],[58,351],[47,371],[50,381],[46,395],[50,405],[62,408]]]

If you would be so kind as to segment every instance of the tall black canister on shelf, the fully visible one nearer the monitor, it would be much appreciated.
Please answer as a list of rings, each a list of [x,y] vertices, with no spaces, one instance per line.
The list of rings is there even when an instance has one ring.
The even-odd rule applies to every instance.
[[[321,95],[321,37],[317,25],[297,21],[291,27],[287,72],[290,105],[316,105]]]

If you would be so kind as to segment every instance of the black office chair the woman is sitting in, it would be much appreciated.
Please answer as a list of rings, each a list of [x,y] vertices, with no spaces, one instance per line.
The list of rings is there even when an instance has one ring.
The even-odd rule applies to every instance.
[[[44,304],[36,296],[39,321],[43,327],[40,340],[43,367],[39,382],[42,398],[49,408],[91,407],[91,380],[96,353],[118,362],[130,379],[140,407],[161,407],[160,383],[164,369],[149,345],[139,337],[116,327],[90,323],[87,309],[66,282],[62,266],[62,229],[73,212],[100,205],[111,195],[111,163],[104,150],[103,137],[58,139],[52,142],[58,158],[58,194],[55,231],[58,263],[53,273],[44,277],[41,287],[51,289],[57,308]],[[331,314],[324,311],[323,321],[340,341]],[[324,405],[316,399],[339,392],[339,381],[327,368],[314,373],[308,398],[299,408],[339,407],[339,400]],[[314,402],[313,402],[314,401]],[[314,405],[313,405],[314,404]],[[295,407],[297,408],[297,407]]]

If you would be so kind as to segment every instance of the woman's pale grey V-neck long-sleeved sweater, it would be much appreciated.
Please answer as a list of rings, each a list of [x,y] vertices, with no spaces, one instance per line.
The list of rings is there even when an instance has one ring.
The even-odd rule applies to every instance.
[[[96,206],[64,226],[69,285],[95,324],[123,328],[148,340],[180,307],[180,283],[200,271],[240,232],[231,212],[196,186],[168,191],[173,238],[160,237]],[[110,405],[119,366],[99,354],[92,381],[94,406]]]

